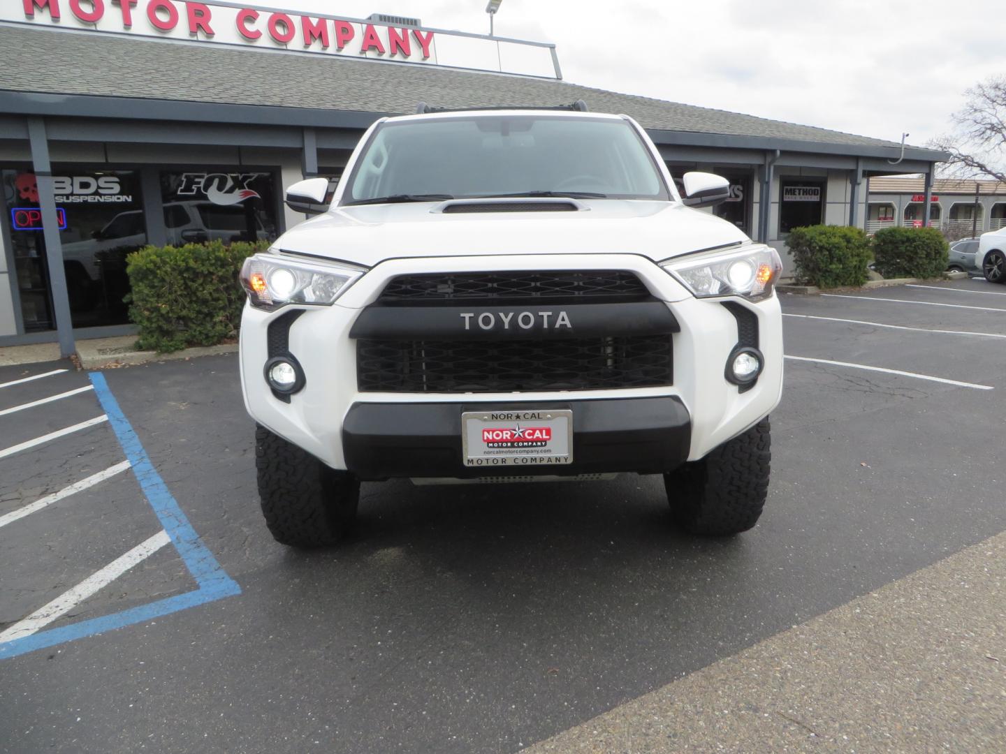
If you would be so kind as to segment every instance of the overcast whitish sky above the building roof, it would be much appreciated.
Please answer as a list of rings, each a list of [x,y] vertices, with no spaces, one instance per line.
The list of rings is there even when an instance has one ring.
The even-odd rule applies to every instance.
[[[488,32],[486,0],[273,0]],[[921,145],[1006,72],[1003,0],[503,0],[496,33],[555,42],[566,80]]]

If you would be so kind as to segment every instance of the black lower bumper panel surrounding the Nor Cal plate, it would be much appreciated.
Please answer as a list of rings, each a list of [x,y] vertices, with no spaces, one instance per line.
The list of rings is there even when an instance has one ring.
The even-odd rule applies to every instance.
[[[572,410],[573,462],[472,468],[465,411]],[[676,397],[513,403],[354,403],[342,428],[346,467],[361,480],[670,472],[688,457],[691,417]]]

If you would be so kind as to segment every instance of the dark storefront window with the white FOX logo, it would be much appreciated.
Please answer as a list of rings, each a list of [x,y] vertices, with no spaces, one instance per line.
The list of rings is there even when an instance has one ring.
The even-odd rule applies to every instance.
[[[276,238],[272,173],[164,171],[161,198],[170,244]]]

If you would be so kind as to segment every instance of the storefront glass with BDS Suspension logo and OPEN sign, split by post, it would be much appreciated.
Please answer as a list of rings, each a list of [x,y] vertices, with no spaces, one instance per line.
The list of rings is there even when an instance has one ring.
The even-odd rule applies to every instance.
[[[147,242],[140,180],[131,170],[53,169],[56,219],[72,325],[128,321],[126,255]],[[52,292],[38,187],[30,170],[3,171],[14,265],[27,332],[51,330]]]

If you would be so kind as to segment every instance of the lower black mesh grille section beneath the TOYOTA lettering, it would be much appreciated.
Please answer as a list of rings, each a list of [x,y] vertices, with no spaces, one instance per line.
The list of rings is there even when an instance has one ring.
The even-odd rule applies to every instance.
[[[356,343],[361,391],[494,393],[657,387],[673,382],[670,335]]]

